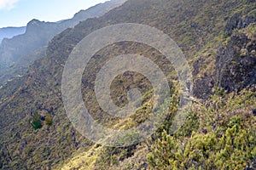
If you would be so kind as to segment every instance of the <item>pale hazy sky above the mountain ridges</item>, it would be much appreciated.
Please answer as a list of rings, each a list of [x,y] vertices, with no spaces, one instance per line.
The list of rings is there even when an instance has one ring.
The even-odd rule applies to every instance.
[[[58,21],[69,19],[80,9],[108,0],[0,0],[0,28],[26,26],[32,19]]]

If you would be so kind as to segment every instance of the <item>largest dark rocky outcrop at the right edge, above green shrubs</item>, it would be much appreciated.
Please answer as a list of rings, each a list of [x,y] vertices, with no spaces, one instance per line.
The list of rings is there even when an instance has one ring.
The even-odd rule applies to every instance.
[[[245,34],[232,36],[226,48],[219,48],[216,60],[218,87],[228,92],[240,91],[256,83],[255,48],[256,40]]]

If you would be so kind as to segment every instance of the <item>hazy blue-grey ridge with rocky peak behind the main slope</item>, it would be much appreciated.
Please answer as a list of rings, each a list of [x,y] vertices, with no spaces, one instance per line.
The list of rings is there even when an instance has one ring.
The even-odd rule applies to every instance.
[[[26,26],[25,34],[4,39],[0,44],[0,85],[10,78],[24,74],[27,67],[38,59],[38,53],[56,34],[79,24],[82,20],[102,16],[124,2],[125,0],[113,0],[101,3],[87,10],[81,10],[73,16],[73,19],[56,23],[31,20]]]

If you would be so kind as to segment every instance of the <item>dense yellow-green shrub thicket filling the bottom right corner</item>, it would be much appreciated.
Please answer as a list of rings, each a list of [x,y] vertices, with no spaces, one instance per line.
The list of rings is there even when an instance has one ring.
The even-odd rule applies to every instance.
[[[148,154],[150,169],[244,169],[256,156],[255,116],[251,107],[255,92],[212,98],[208,107],[197,108],[197,116],[175,134],[163,131]],[[224,103],[222,102],[224,101]],[[245,102],[246,101],[246,102]],[[213,105],[214,104],[214,105]],[[241,110],[242,108],[242,110]],[[192,112],[190,115],[195,114]],[[198,126],[192,123],[198,121]],[[187,133],[188,135],[189,133]]]

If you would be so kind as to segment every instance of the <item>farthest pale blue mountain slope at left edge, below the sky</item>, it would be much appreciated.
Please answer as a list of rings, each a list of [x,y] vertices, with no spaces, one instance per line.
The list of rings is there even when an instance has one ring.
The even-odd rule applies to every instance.
[[[25,31],[26,26],[0,28],[0,43],[2,42],[3,38],[12,38],[20,34],[24,34]]]

